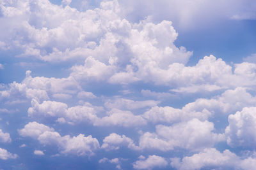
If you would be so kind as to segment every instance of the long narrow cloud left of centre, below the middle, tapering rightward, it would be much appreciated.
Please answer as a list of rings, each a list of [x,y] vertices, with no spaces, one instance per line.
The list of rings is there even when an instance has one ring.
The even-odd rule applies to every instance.
[[[56,101],[44,101],[39,104],[32,99],[32,107],[28,109],[28,116],[31,118],[54,120],[64,124],[77,124],[87,122],[95,126],[123,126],[132,127],[145,125],[147,121],[141,115],[134,115],[131,111],[118,110],[113,108],[106,112],[106,116],[98,117],[97,113],[102,108],[85,103],[68,108],[67,104]]]

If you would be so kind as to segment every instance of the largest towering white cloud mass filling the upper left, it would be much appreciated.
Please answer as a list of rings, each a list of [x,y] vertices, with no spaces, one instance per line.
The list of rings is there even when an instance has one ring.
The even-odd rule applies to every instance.
[[[102,2],[100,8],[84,12],[40,0],[9,5],[6,5],[8,10],[2,9],[4,18],[18,20],[17,15],[9,17],[17,11],[24,18],[19,27],[6,25],[19,36],[11,36],[13,32],[8,36],[6,32],[3,42],[20,49],[19,56],[32,55],[49,62],[84,59],[84,66],[71,68],[70,76],[79,81],[131,83],[144,80],[168,84],[166,81],[170,80],[159,82],[159,72],[166,73],[173,62],[186,64],[192,54],[173,44],[177,32],[172,22],[164,20],[153,24],[144,20],[132,24],[119,15],[117,1]],[[32,11],[31,6],[35,10]]]

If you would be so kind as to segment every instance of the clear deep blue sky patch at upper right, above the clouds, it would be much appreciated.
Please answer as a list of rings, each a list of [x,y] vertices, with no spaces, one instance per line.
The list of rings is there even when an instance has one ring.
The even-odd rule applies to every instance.
[[[175,45],[193,51],[188,66],[211,54],[232,65],[255,53],[255,28],[255,20],[225,20],[202,29],[180,29]]]

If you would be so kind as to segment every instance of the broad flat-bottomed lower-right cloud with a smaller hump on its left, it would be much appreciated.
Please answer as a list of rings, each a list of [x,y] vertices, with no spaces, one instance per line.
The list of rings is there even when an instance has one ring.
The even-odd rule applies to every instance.
[[[101,148],[117,150],[127,147],[131,150],[160,150],[167,152],[175,148],[187,150],[202,150],[225,141],[224,134],[216,134],[211,122],[201,122],[198,119],[189,120],[172,126],[157,125],[156,132],[145,132],[140,136],[138,145],[125,135],[110,134],[103,140]]]

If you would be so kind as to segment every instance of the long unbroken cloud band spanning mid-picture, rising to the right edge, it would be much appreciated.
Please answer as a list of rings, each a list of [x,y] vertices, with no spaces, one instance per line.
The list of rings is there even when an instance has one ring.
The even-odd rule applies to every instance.
[[[235,96],[235,97],[234,97]],[[207,120],[212,113],[230,113],[239,110],[244,106],[253,106],[255,97],[251,96],[244,88],[227,90],[221,96],[213,99],[197,99],[193,103],[186,104],[182,109],[172,107],[158,107],[158,101],[132,101],[129,99],[114,99],[106,101],[106,108],[138,109],[154,106],[143,115],[134,115],[130,111],[112,109],[107,112],[106,117],[98,117],[99,108],[84,104],[83,106],[67,107],[67,104],[56,101],[44,101],[39,104],[33,99],[29,108],[29,117],[32,118],[53,118],[60,123],[89,122],[96,126],[124,126],[132,127],[147,124],[149,122],[179,122],[193,118]],[[146,120],[145,120],[146,119]]]

